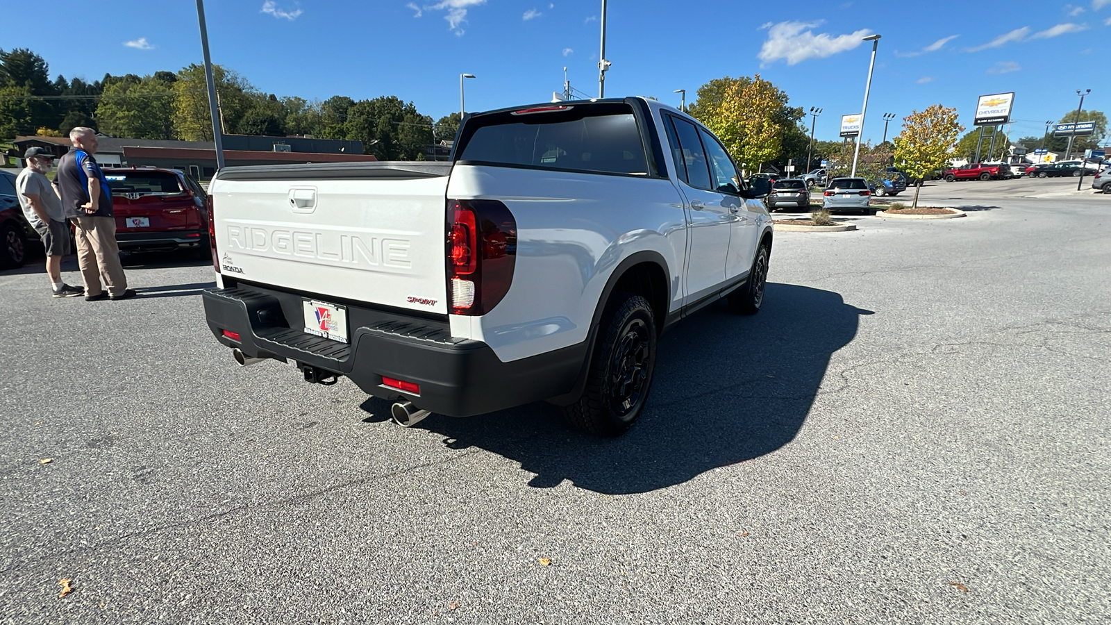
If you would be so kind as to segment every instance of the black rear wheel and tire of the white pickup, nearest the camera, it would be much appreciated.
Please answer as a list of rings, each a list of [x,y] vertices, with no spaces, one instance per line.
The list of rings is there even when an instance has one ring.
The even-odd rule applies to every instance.
[[[614,294],[599,326],[582,396],[563,408],[571,427],[610,437],[629,429],[652,385],[655,336],[655,317],[648,300]]]

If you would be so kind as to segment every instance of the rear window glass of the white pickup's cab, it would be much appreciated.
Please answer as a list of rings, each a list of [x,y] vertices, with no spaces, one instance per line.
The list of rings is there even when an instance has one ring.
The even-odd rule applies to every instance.
[[[479,116],[470,128],[463,127],[463,133],[458,160],[648,175],[644,146],[629,105]]]

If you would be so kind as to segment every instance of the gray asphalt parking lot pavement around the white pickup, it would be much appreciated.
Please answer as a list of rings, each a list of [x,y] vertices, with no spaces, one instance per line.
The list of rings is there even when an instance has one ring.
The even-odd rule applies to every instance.
[[[208,262],[2,271],[0,623],[1107,623],[1111,196],[1068,182],[778,234],[614,440],[240,368]]]

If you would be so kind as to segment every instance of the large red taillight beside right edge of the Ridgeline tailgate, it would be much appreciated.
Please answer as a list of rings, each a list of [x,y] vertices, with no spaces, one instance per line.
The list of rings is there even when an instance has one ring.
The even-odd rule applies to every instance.
[[[448,200],[448,296],[454,315],[484,315],[509,292],[517,220],[494,200]]]

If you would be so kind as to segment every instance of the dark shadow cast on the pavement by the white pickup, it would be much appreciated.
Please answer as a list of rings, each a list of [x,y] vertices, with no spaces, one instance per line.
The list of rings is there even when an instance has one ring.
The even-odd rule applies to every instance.
[[[763,310],[700,311],[660,340],[651,396],[623,436],[568,429],[548,404],[418,424],[454,449],[477,447],[520,463],[534,487],[564,479],[598,493],[645,493],[770,454],[802,427],[831,355],[857,335],[861,315],[839,294],[769,284]],[[389,403],[363,408],[389,415]],[[377,420],[368,418],[367,420]]]

